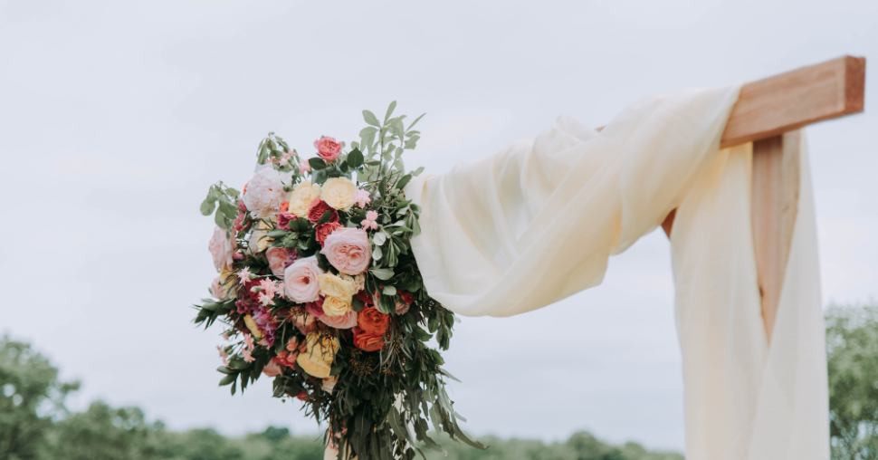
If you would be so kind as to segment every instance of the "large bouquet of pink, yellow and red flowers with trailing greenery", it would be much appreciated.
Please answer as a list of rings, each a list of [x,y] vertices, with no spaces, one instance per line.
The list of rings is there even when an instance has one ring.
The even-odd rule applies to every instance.
[[[350,149],[321,137],[308,159],[269,133],[243,193],[217,182],[201,205],[215,213],[219,276],[195,321],[224,325],[220,385],[272,378],[275,398],[325,423],[339,458],[423,456],[417,443],[439,448],[428,420],[484,448],[458,426],[454,378],[428,344],[448,350],[455,317],[426,292],[409,244],[420,209],[403,187],[423,168],[406,173],[402,155],[423,115],[406,128],[395,108],[383,122],[363,110]]]

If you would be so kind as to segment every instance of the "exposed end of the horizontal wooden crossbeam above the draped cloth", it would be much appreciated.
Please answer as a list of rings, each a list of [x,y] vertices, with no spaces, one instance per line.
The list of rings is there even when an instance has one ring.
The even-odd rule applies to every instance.
[[[721,148],[863,111],[865,69],[865,58],[844,56],[743,85]]]

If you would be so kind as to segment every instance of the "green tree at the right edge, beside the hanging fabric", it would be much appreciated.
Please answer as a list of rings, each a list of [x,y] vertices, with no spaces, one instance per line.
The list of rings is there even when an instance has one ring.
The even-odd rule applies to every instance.
[[[878,304],[830,306],[826,350],[832,457],[878,459]]]

